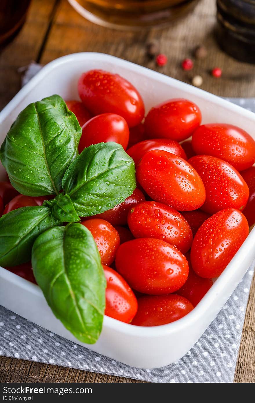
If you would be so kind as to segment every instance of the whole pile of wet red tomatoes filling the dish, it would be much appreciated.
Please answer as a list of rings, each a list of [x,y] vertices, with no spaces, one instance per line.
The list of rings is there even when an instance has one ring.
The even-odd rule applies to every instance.
[[[115,141],[136,165],[133,194],[82,222],[106,275],[105,314],[139,326],[173,322],[199,303],[255,223],[255,141],[232,125],[200,125],[199,107],[185,99],[144,119],[137,89],[105,71],[81,75],[78,91],[81,102],[66,104],[83,129],[79,152]],[[2,214],[44,199],[0,184]],[[8,270],[35,282],[30,263]]]

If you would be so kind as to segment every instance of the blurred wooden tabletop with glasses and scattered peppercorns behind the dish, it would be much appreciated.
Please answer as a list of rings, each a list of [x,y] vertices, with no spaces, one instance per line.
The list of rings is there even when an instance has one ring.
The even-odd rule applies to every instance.
[[[84,51],[220,96],[255,95],[254,0],[1,0],[0,46],[0,109],[32,61]]]

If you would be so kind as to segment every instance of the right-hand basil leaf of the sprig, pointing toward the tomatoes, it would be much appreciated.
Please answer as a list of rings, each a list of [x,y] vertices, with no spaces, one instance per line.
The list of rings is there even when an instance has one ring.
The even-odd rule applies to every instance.
[[[102,213],[133,193],[135,164],[120,144],[90,145],[66,170],[62,186],[79,216]]]

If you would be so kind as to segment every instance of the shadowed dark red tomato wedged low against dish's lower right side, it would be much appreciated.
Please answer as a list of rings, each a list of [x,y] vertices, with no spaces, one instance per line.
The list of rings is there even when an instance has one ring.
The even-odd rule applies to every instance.
[[[199,277],[191,267],[190,253],[185,254],[189,262],[189,276],[186,283],[178,290],[178,295],[187,298],[195,307],[213,285],[211,278]]]

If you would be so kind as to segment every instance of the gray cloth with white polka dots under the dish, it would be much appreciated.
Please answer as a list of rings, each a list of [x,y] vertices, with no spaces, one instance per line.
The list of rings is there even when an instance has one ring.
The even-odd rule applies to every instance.
[[[255,110],[254,99],[229,99]],[[254,262],[255,264],[255,262]],[[232,382],[254,264],[196,345],[164,368],[142,370],[75,345],[0,306],[0,355],[149,382]]]

